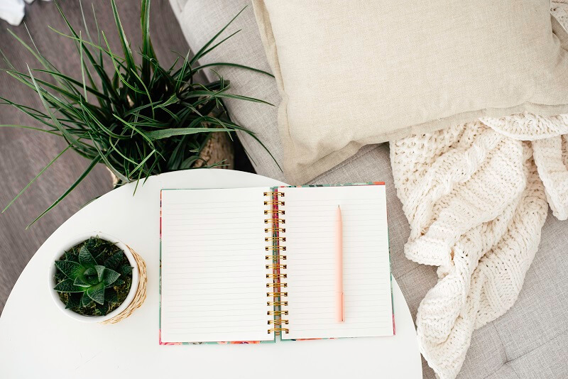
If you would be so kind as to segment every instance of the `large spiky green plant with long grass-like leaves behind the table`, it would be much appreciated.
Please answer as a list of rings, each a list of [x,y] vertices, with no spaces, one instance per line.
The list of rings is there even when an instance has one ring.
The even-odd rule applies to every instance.
[[[40,53],[31,35],[31,45],[28,45],[10,32],[34,55],[43,66],[42,69],[30,70],[28,67],[27,72],[19,72],[2,53],[6,64],[9,65],[9,69],[4,71],[37,92],[45,111],[16,104],[2,97],[0,104],[15,106],[47,128],[0,126],[50,133],[64,138],[67,143],[67,147],[43,170],[40,170],[38,175],[4,208],[4,211],[67,150],[75,150],[90,161],[82,175],[77,177],[77,180],[31,224],[59,204],[97,163],[104,163],[116,175],[119,180],[117,185],[136,181],[136,187],[142,178],[161,172],[189,169],[195,167],[197,162],[201,162],[201,167],[222,165],[223,162],[204,165],[200,157],[201,150],[212,133],[229,133],[231,136],[234,131],[244,131],[254,136],[246,128],[231,121],[224,99],[268,104],[259,99],[229,94],[227,92],[229,80],[219,75],[217,80],[208,84],[194,82],[197,73],[214,66],[240,67],[271,75],[262,70],[230,62],[207,65],[199,65],[197,62],[239,33],[236,31],[217,41],[219,35],[242,11],[200,50],[197,50],[195,55],[190,57],[190,52],[187,52],[185,57],[181,57],[182,60],[178,58],[173,65],[165,68],[159,64],[150,39],[150,0],[141,1],[142,44],[137,56],[133,54],[131,45],[126,40],[115,1],[111,0],[110,4],[122,47],[122,56],[116,55],[111,50],[107,35],[99,29],[94,7],[96,40],[89,33],[84,14],[86,38],[83,38],[83,31],[76,31],[72,27],[60,6],[55,3],[69,33],[51,29],[74,41],[79,57],[77,65],[81,67],[80,79],[74,79],[60,72]],[[135,57],[141,61],[139,64],[136,63]],[[111,71],[111,75],[107,74],[107,69]],[[40,79],[38,75],[47,75],[49,80]]]

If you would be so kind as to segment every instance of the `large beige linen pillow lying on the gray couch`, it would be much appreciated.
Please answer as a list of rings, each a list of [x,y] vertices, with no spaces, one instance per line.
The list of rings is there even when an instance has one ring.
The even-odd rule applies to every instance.
[[[361,146],[479,117],[568,113],[550,0],[253,0],[288,182]],[[380,179],[380,178],[378,178]]]

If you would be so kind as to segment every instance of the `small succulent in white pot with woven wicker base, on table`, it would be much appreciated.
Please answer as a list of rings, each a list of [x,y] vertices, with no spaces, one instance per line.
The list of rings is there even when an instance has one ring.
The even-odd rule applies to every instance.
[[[107,234],[72,238],[55,253],[49,282],[53,301],[82,322],[119,322],[146,297],[146,266]]]

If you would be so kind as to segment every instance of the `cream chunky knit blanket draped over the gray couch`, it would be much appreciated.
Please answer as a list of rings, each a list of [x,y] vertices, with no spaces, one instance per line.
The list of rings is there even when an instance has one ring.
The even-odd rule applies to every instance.
[[[568,28],[568,0],[552,3]],[[567,89],[568,91],[568,89]],[[455,378],[471,334],[517,300],[547,203],[568,217],[568,115],[481,119],[391,143],[406,256],[438,266],[416,315],[420,351]]]

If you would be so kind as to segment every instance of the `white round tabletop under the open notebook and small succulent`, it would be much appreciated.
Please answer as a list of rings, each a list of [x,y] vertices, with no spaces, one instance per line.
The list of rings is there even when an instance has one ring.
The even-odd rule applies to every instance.
[[[13,287],[0,318],[1,378],[422,378],[410,312],[393,280],[396,335],[382,338],[277,341],[275,344],[158,344],[161,188],[283,185],[230,170],[171,172],[105,194],[48,238]],[[45,285],[53,248],[88,231],[128,243],[148,265],[148,297],[118,324],[65,316]],[[16,252],[14,252],[16,253]]]

